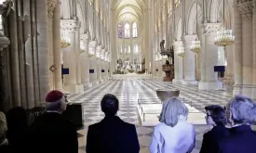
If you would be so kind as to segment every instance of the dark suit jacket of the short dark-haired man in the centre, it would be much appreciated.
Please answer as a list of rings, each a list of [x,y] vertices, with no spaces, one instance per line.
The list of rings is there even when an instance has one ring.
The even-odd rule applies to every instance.
[[[87,153],[139,153],[140,145],[133,124],[117,116],[105,117],[88,127]]]

